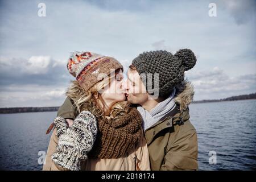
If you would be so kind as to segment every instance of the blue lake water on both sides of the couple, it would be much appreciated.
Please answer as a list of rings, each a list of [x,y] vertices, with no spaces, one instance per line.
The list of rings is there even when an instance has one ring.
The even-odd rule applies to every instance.
[[[256,170],[256,100],[192,104],[200,170]],[[41,170],[56,112],[0,114],[0,169]],[[209,152],[216,164],[209,164]]]

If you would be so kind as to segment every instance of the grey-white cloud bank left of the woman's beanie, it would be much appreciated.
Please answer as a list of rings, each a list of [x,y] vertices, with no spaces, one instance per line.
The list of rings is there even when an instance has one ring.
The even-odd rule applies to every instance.
[[[0,57],[0,85],[65,85],[75,79],[67,70],[66,60],[50,56],[31,56],[29,59]]]

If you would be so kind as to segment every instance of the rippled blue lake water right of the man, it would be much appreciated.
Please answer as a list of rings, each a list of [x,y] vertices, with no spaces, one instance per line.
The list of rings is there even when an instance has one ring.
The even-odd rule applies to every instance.
[[[200,170],[256,170],[256,100],[192,104]],[[209,164],[209,151],[217,164]]]

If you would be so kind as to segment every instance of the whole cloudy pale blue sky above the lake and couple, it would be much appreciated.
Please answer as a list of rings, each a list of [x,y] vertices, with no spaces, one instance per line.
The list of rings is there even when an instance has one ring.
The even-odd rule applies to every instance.
[[[216,15],[209,16],[209,3]],[[39,16],[39,3],[46,16]],[[59,106],[72,51],[190,48],[195,100],[256,92],[255,1],[0,1],[0,107]]]

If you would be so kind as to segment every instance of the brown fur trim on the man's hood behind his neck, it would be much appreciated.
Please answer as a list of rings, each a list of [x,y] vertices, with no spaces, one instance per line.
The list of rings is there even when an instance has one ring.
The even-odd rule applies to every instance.
[[[175,102],[180,105],[181,113],[183,113],[188,108],[188,105],[191,104],[194,94],[195,90],[192,83],[185,81],[184,90],[174,98]]]

